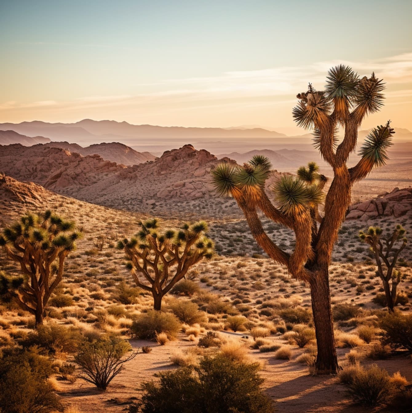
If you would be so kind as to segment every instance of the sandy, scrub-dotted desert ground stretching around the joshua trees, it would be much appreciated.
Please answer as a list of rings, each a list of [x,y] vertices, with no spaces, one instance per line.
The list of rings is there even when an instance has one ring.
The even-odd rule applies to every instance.
[[[370,191],[377,192],[371,188]],[[214,208],[214,202],[217,208]],[[166,204],[164,201],[162,207],[167,207]],[[278,412],[364,411],[363,407],[353,404],[348,398],[346,387],[339,384],[337,377],[313,377],[309,374],[306,361],[313,353],[313,346],[301,349],[277,330],[279,325],[285,325],[281,315],[286,309],[299,309],[304,318],[300,322],[310,323],[305,318],[311,305],[308,287],[291,279],[285,268],[262,254],[233,200],[218,202],[212,199],[206,209],[202,209],[203,201],[191,201],[188,204],[192,212],[190,218],[208,219],[208,234],[216,243],[217,254],[210,261],[199,263],[191,273],[193,294],[189,297],[168,294],[163,308],[167,309],[176,300],[191,300],[200,309],[207,311],[207,318],[201,325],[186,326],[186,333],[182,330],[177,340],[168,341],[162,346],[155,342],[133,339],[129,335],[128,328],[132,319],[151,308],[152,297],[143,290],[134,288],[129,290],[133,300],[128,303],[122,301],[120,291],[132,289],[134,284],[125,269],[123,252],[114,247],[116,239],[134,234],[137,222],[153,215],[151,204],[142,204],[141,210],[144,213],[139,213],[139,204],[129,208],[134,211],[113,209],[58,195],[40,185],[20,183],[12,178],[7,178],[7,185],[4,182],[0,185],[0,227],[8,225],[27,211],[41,212],[45,209],[59,211],[83,227],[85,236],[78,242],[78,249],[67,259],[64,281],[57,292],[58,297],[66,297],[67,302],[63,300],[62,304],[56,300],[47,322],[74,325],[84,332],[114,332],[129,339],[135,350],[142,346],[152,348],[148,354],[140,351],[126,363],[125,369],[115,377],[106,392],[97,391],[81,379],[72,382],[61,380],[56,373],[54,384],[64,404],[76,406],[83,413],[125,411],[128,405],[138,400],[139,387],[143,381],[150,380],[153,373],[177,367],[172,359],[179,355],[196,358],[216,352],[216,348],[201,349],[197,346],[198,339],[207,330],[214,330],[222,341],[240,347],[243,357],[261,363],[260,374],[265,379],[264,389],[275,400]],[[213,218],[214,210],[222,208],[230,218],[224,218],[221,213]],[[183,222],[183,216],[175,219],[157,216],[166,226],[176,226]],[[380,216],[368,221],[346,221],[334,249],[330,285],[333,306],[356,304],[355,314],[341,317],[336,322],[337,352],[341,366],[348,363],[347,354],[351,352],[353,355],[355,352],[363,363],[377,363],[390,374],[400,371],[401,375],[412,382],[410,357],[400,352],[386,360],[367,359],[376,337],[367,344],[356,335],[358,326],[373,325],[377,312],[384,311],[372,301],[379,294],[381,283],[375,275],[376,268],[367,246],[358,240],[358,232],[369,225],[380,225],[389,230],[396,223],[402,223],[407,233],[410,233],[410,212],[400,218]],[[269,222],[265,223],[265,229],[281,247],[293,247],[294,239],[288,230]],[[101,251],[94,246],[99,235],[103,235],[106,241]],[[405,280],[399,287],[411,297],[410,248],[405,250],[403,259]],[[3,255],[0,265],[7,271],[14,271],[13,264]],[[400,309],[410,312],[411,306],[406,303]],[[226,320],[233,314],[245,316],[247,322],[240,328],[242,331],[233,332],[227,326],[225,328]],[[33,326],[33,320],[24,311],[4,308],[0,325],[2,345],[7,345],[12,339],[22,337]],[[274,348],[287,347],[291,351],[290,357],[276,359],[273,352],[252,349],[254,341],[250,337],[250,329],[253,326],[268,328],[270,335],[264,339],[264,344],[268,347],[275,346]],[[242,338],[245,336],[248,338]],[[306,354],[306,357],[302,357],[302,354]],[[65,354],[56,354],[55,358],[56,366],[66,361],[66,358],[71,361],[71,356]]]

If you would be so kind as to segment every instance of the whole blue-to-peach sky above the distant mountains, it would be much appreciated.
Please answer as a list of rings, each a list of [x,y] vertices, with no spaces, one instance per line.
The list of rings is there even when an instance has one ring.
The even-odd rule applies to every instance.
[[[410,0],[0,0],[0,122],[303,130],[296,94],[350,65],[412,130]]]

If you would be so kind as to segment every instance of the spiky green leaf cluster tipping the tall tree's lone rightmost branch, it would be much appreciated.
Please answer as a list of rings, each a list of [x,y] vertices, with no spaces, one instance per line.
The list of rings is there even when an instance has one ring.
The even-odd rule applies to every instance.
[[[383,166],[388,160],[386,150],[392,145],[392,136],[395,132],[390,127],[389,121],[385,126],[377,126],[366,136],[360,148],[359,155],[373,162],[375,166]]]

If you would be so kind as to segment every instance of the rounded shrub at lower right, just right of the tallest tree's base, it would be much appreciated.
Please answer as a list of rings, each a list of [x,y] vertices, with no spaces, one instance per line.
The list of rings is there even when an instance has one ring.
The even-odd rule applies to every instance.
[[[360,368],[348,383],[352,398],[365,406],[377,406],[387,401],[393,394],[394,385],[391,377],[376,364],[369,368]]]

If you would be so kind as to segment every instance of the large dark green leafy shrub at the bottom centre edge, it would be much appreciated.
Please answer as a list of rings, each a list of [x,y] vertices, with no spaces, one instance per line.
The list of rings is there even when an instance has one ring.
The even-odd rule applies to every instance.
[[[272,401],[261,392],[258,369],[258,363],[216,356],[204,357],[196,367],[157,373],[158,383],[142,386],[142,413],[271,413]]]

